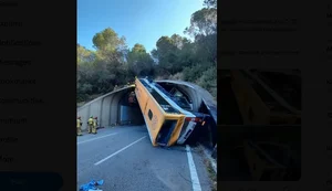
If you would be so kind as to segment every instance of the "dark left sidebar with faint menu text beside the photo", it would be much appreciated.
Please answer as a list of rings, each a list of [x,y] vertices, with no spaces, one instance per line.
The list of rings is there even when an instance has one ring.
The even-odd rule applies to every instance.
[[[76,1],[0,1],[0,190],[76,189]]]

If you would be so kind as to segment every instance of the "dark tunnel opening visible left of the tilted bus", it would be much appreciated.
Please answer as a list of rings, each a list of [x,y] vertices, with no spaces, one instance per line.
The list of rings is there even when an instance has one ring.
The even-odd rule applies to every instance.
[[[145,125],[138,103],[135,100],[134,88],[128,89],[118,104],[118,125]]]

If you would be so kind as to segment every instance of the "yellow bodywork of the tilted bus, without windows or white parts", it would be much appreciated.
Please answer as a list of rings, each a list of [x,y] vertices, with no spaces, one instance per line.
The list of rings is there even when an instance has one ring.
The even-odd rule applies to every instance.
[[[151,137],[152,145],[158,146],[157,136],[165,120],[177,120],[170,138],[167,141],[167,146],[173,146],[176,144],[185,121],[185,115],[166,113],[138,78],[135,79],[135,94]]]

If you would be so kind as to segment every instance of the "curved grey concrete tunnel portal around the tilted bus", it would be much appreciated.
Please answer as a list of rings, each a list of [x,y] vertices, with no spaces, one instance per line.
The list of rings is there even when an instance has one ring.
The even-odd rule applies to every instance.
[[[167,92],[180,93],[190,104],[193,112],[206,113],[211,116],[208,125],[194,130],[188,142],[200,141],[212,148],[217,144],[217,104],[212,96],[206,89],[187,82],[156,81],[156,83]],[[90,116],[98,117],[100,127],[145,125],[138,104],[129,104],[128,102],[129,94],[134,91],[134,85],[123,87],[79,107],[77,116],[82,118],[82,130],[87,129],[86,121]]]

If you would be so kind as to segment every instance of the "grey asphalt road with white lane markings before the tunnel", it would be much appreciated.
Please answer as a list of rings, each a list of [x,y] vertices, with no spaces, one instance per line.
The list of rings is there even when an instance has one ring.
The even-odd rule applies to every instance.
[[[77,137],[77,188],[103,179],[103,191],[210,191],[201,155],[186,149],[153,147],[145,126],[85,134]]]

